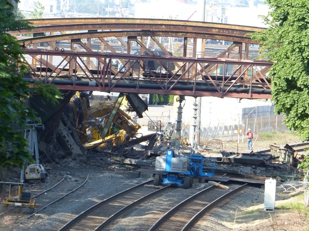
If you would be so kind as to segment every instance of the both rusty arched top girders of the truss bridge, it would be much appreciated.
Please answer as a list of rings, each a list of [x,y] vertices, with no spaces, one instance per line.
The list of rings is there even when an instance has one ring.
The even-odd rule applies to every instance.
[[[36,26],[33,30],[21,30],[10,33],[17,35],[44,32],[70,32],[70,35],[63,36],[40,36],[33,39],[20,39],[25,44],[29,42],[39,43],[77,38],[121,36],[188,37],[257,44],[257,41],[251,40],[249,34],[264,30],[263,28],[229,24],[158,19],[72,18],[39,19],[30,20],[30,22]],[[72,31],[85,30],[88,32],[71,34]],[[117,31],[113,32],[113,30]]]

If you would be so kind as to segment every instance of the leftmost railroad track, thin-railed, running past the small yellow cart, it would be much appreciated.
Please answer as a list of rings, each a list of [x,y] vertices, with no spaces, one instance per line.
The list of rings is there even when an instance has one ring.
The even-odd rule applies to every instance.
[[[14,215],[15,225],[12,227],[12,230],[19,230],[19,225],[23,223],[23,229],[27,229],[27,226],[31,227],[34,223],[40,222],[40,216],[36,216],[35,214],[41,213],[43,209],[46,207],[58,202],[59,200],[63,199],[64,197],[70,195],[71,193],[78,190],[82,187],[87,181],[88,177],[81,183],[80,181],[75,180],[66,180],[66,176],[62,180],[60,180],[57,184],[50,187],[49,189],[33,196],[32,198],[35,199],[37,204],[37,209],[30,215],[27,215],[24,212],[21,212],[18,216]],[[41,218],[43,219],[43,217]]]

